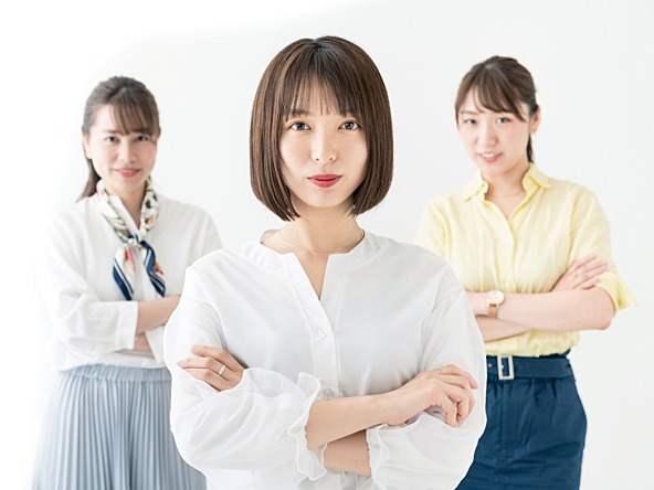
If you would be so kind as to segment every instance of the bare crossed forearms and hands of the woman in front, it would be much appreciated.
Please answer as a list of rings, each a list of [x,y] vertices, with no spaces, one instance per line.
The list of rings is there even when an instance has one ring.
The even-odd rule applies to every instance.
[[[217,392],[241,382],[244,366],[225,350],[198,345],[191,352],[198,356],[178,365]],[[400,425],[433,406],[442,408],[446,424],[454,427],[473,409],[475,388],[477,383],[467,372],[447,365],[437,372],[421,372],[388,393],[315,402],[305,428],[307,446],[315,449],[327,445],[326,467],[370,476],[367,428]]]

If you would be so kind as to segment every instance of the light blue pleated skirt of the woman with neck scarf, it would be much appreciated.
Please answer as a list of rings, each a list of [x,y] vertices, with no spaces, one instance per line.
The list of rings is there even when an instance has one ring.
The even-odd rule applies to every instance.
[[[60,373],[34,490],[199,490],[170,433],[170,373],[85,365]]]

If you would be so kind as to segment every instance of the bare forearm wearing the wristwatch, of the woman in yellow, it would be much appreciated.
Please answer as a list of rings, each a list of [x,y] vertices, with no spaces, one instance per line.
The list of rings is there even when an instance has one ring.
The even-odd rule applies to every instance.
[[[475,316],[485,316],[483,292],[468,292]],[[599,288],[541,294],[505,294],[497,318],[528,329],[576,331],[605,329],[613,318],[613,303]]]

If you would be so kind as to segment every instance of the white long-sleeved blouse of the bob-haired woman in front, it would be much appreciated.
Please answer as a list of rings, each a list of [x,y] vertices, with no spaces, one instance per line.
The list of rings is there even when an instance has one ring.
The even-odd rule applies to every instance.
[[[247,366],[241,383],[217,393],[183,372],[196,344]],[[295,254],[260,242],[209,254],[187,273],[165,348],[178,449],[221,490],[452,489],[485,427],[484,345],[463,287],[436,255],[371,233],[329,257],[320,299]],[[450,363],[479,383],[461,427],[431,409],[369,428],[372,478],[307,449],[314,401],[389,392]]]

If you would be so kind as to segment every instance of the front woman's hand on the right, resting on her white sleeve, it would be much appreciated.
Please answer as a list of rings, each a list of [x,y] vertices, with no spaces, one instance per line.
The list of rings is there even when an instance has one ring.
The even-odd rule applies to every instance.
[[[423,371],[413,380],[380,396],[383,422],[404,424],[410,418],[437,406],[452,427],[462,424],[475,406],[473,390],[478,385],[464,370],[453,364],[436,371]]]

